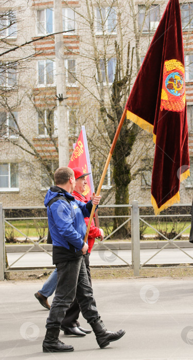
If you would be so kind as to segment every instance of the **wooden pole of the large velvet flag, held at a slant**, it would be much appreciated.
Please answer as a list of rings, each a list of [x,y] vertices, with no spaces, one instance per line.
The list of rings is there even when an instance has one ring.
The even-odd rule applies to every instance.
[[[111,145],[111,149],[110,149],[110,152],[109,152],[109,155],[108,155],[106,164],[104,165],[104,169],[103,169],[103,172],[102,172],[102,176],[101,176],[101,179],[100,179],[100,183],[99,183],[99,186],[98,186],[98,189],[97,189],[97,192],[96,192],[96,195],[97,195],[97,196],[100,195],[100,190],[101,190],[101,187],[102,187],[102,184],[103,184],[103,181],[104,181],[104,177],[105,177],[105,175],[106,175],[106,173],[107,173],[107,169],[108,169],[108,166],[109,166],[111,157],[112,157],[112,155],[113,155],[113,151],[114,151],[114,148],[115,148],[115,145],[116,145],[116,142],[117,142],[117,139],[118,139],[120,130],[121,130],[121,128],[122,128],[122,124],[123,124],[123,122],[124,122],[124,120],[125,120],[126,113],[127,113],[127,109],[125,108],[125,109],[124,109],[124,112],[122,113],[120,122],[119,122],[119,124],[118,124],[118,128],[117,128],[117,131],[116,131],[116,133],[115,133],[115,137],[114,137],[114,139],[113,139],[113,142],[112,142],[112,145]],[[86,230],[86,233],[85,233],[84,242],[87,241],[87,238],[88,238],[88,235],[89,235],[89,231],[90,231],[90,227],[91,227],[91,222],[92,222],[92,219],[93,219],[93,215],[94,215],[94,212],[95,212],[95,208],[96,208],[96,205],[93,204],[93,208],[92,208],[92,211],[91,211],[89,224],[88,224],[88,226],[87,226],[87,230]]]

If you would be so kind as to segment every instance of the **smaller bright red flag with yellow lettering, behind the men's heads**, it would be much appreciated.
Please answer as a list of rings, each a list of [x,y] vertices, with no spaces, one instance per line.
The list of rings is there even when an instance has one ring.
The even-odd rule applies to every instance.
[[[84,128],[84,127],[82,127]],[[83,173],[91,172],[89,167],[90,159],[87,160],[87,142],[86,142],[86,135],[83,134],[84,129],[81,130],[80,135],[78,137],[77,143],[75,145],[74,151],[72,153],[71,159],[69,160],[68,167],[73,169],[76,167],[82,168]],[[86,142],[86,143],[85,143]],[[86,156],[87,155],[87,156]],[[90,179],[91,176],[91,179]],[[90,200],[90,196],[92,195],[92,172],[90,175],[85,176],[87,184],[85,185],[85,191],[82,195],[86,198],[86,200]]]

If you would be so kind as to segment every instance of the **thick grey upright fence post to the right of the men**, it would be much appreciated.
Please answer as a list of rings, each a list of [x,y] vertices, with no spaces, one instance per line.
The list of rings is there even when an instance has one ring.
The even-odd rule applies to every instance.
[[[132,201],[132,266],[134,276],[139,276],[140,268],[140,233],[138,201]]]

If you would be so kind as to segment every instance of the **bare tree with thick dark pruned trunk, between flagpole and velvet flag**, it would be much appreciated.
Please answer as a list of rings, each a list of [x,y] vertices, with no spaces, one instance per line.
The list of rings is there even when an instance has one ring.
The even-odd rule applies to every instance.
[[[64,3],[67,5],[67,2]],[[131,4],[133,14],[130,19],[133,20],[133,24],[129,25],[132,28],[130,33],[128,26],[125,29],[124,23],[126,5],[122,5],[116,0],[97,0],[95,2],[85,0],[85,4],[87,13],[82,14],[75,10],[79,27],[82,27],[85,36],[80,38],[81,53],[74,51],[74,56],[80,59],[79,62],[84,61],[84,70],[88,68],[91,70],[89,72],[82,71],[82,66],[80,66],[80,74],[76,74],[75,80],[84,89],[83,96],[92,99],[93,106],[98,111],[97,122],[102,122],[99,130],[98,123],[95,121],[97,132],[101,135],[99,147],[95,150],[98,158],[101,159],[101,168],[99,169],[101,174],[102,165],[107,158],[105,155],[108,154],[108,149],[124,111],[131,84],[141,66],[140,37],[143,30],[138,28],[138,14],[135,11],[134,2]],[[150,2],[148,2],[144,14],[144,22],[149,7]],[[126,14],[127,17],[128,9]],[[66,52],[65,45],[64,49]],[[113,76],[110,75],[110,66],[114,66]],[[128,185],[132,179],[129,155],[138,132],[139,128],[125,119],[112,156],[115,204],[129,203]],[[96,141],[96,137],[94,141]],[[105,144],[105,151],[102,149],[103,146],[101,147],[102,143]],[[140,151],[138,151],[138,155],[139,153]],[[97,167],[96,164],[93,165],[94,168]],[[116,215],[128,215],[128,213],[129,210],[124,207],[115,209]],[[122,219],[117,218],[114,222],[114,228],[121,223]],[[125,228],[120,229],[117,235],[125,236],[127,233],[128,228],[125,226]]]

